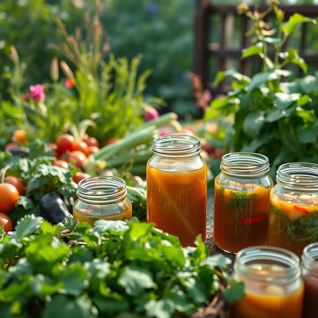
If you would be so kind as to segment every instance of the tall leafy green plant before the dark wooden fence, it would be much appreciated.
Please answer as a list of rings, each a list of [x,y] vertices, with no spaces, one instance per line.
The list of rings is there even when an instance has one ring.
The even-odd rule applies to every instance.
[[[244,7],[248,9],[247,5]],[[271,10],[275,13],[277,30],[264,21]],[[291,82],[281,81],[292,75],[283,69],[288,64],[296,64],[307,73],[307,65],[297,50],[281,50],[299,24],[316,21],[295,13],[283,22],[284,12],[275,1],[265,12],[247,11],[246,15],[252,19],[248,35],[257,43],[242,51],[242,59],[259,55],[263,61],[262,72],[252,78],[233,68],[218,72],[215,84],[230,76],[235,79],[233,91],[225,99],[212,100],[204,119],[221,114],[229,116],[232,124],[225,137],[227,151],[259,152],[268,156],[270,174],[274,177],[281,163],[318,162],[318,73]],[[274,34],[276,37],[272,37]],[[274,49],[273,60],[267,46]]]

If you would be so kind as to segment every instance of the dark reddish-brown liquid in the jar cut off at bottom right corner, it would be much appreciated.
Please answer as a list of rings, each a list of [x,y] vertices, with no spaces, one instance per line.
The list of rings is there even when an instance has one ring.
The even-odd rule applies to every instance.
[[[302,276],[305,282],[305,298],[303,306],[303,318],[316,318],[318,316],[318,276],[305,274]]]

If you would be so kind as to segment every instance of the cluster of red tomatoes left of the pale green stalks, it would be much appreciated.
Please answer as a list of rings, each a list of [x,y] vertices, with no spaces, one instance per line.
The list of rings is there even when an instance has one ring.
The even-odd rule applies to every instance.
[[[84,139],[75,140],[72,135],[63,134],[56,139],[56,143],[48,144],[48,146],[55,152],[57,160],[53,162],[53,166],[67,168],[69,162],[83,169],[83,163],[88,156],[99,152],[99,142],[94,137],[89,137],[85,134]],[[73,181],[79,181],[88,178],[89,175],[84,172],[77,172],[73,176]]]

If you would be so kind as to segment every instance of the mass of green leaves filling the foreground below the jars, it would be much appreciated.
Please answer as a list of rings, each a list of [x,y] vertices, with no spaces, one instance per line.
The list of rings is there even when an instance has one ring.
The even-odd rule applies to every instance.
[[[210,303],[217,277],[230,286],[223,291],[229,302],[244,296],[243,283],[216,268],[231,261],[206,258],[200,236],[197,247],[183,248],[136,219],[98,220],[92,229],[72,217],[51,225],[27,215],[16,232],[0,227],[0,241],[1,317],[189,316]]]

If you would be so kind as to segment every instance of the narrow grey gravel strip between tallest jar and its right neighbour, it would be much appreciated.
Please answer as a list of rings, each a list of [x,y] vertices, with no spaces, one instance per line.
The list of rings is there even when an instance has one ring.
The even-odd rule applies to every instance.
[[[207,225],[206,225],[206,230],[207,230],[207,238],[205,241],[205,245],[209,248],[211,251],[210,255],[214,255],[217,253],[222,253],[228,258],[232,259],[232,264],[229,267],[229,274],[232,273],[233,271],[233,262],[235,259],[235,254],[230,254],[222,251],[221,249],[218,248],[217,245],[215,245],[214,240],[213,240],[213,211],[214,211],[214,192],[208,192],[208,202],[207,202]]]

